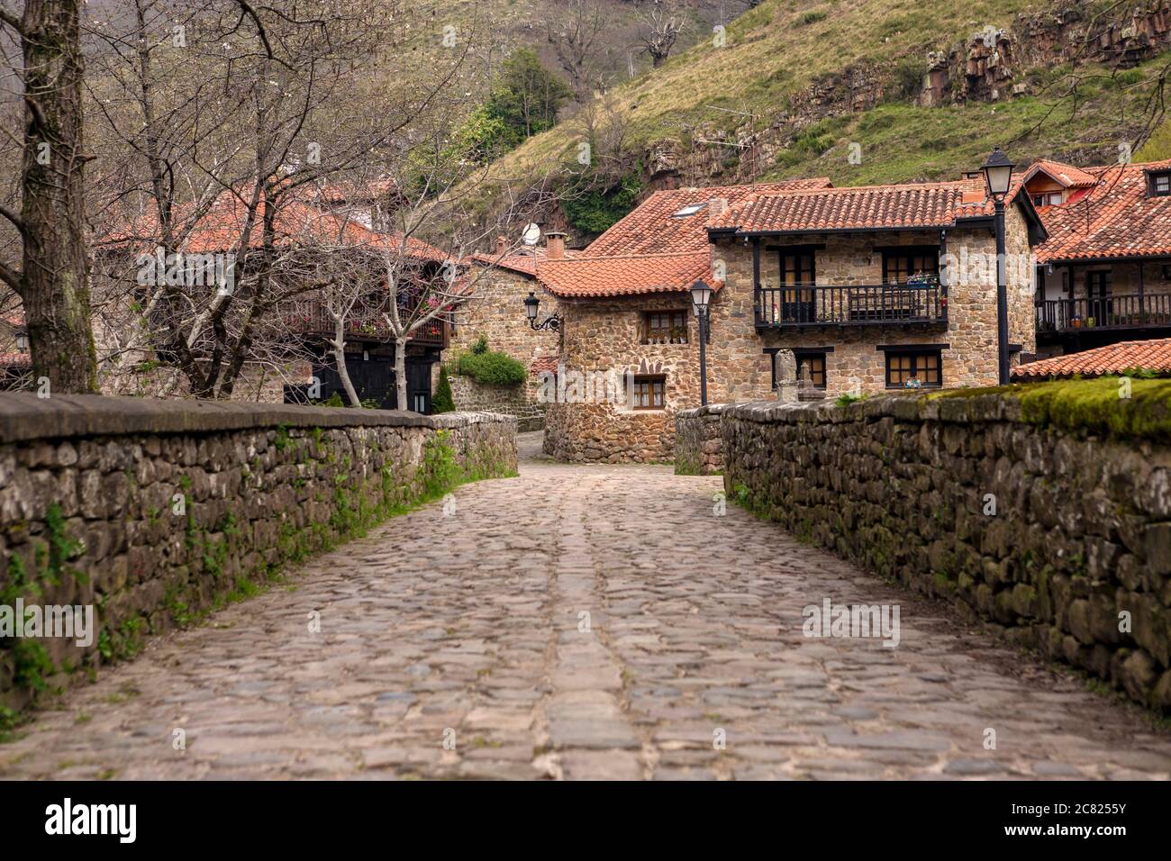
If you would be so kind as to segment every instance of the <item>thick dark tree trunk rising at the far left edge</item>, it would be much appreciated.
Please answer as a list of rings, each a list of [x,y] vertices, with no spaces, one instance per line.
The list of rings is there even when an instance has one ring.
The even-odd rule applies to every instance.
[[[82,172],[82,54],[78,0],[26,0],[25,226],[20,298],[33,376],[50,394],[96,392]]]

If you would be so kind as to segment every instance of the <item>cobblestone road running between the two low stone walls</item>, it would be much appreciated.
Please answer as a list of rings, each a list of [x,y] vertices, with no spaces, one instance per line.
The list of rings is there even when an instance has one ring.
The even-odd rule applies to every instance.
[[[717,517],[719,479],[537,445],[450,515],[396,518],[103,670],[0,745],[0,775],[1171,773],[1171,736],[1137,710],[733,505]],[[897,648],[807,638],[802,608],[827,597],[899,604]]]

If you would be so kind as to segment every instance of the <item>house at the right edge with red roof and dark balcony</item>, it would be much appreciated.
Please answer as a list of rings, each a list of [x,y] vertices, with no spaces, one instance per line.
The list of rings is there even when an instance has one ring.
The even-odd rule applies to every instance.
[[[1171,160],[1046,160],[1023,182],[1049,233],[1038,248],[1039,353],[1171,335]]]

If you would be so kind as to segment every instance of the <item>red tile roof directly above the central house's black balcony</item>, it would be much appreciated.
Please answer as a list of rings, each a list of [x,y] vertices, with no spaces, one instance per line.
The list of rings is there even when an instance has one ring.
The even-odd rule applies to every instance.
[[[1007,199],[1014,200],[1020,189],[1018,178]],[[958,218],[992,213],[984,180],[965,178],[753,194],[708,221],[707,227],[738,233],[941,228],[954,226]]]

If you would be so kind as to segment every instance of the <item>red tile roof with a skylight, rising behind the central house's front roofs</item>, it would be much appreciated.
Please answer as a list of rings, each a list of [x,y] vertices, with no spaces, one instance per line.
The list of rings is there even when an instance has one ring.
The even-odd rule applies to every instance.
[[[800,189],[826,189],[833,183],[826,177],[790,179],[759,185],[717,185],[703,189],[656,191],[634,211],[602,235],[586,252],[590,257],[615,254],[667,254],[707,248],[707,204],[724,198],[735,205],[751,194],[779,193]],[[701,205],[692,216],[677,217],[689,205]]]

